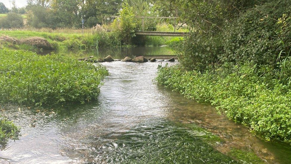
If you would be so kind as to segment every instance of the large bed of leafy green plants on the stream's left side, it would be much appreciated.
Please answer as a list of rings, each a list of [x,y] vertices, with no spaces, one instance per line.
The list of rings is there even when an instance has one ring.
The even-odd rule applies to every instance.
[[[97,99],[107,74],[99,64],[4,48],[0,50],[0,101],[36,106],[89,102]]]

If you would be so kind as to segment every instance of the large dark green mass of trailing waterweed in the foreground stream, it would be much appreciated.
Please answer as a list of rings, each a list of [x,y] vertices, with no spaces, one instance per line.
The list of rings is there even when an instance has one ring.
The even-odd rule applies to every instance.
[[[205,130],[181,125],[164,121],[140,125],[115,138],[109,134],[102,137],[107,143],[95,147],[91,156],[97,163],[239,163],[213,148],[208,143],[213,138]]]

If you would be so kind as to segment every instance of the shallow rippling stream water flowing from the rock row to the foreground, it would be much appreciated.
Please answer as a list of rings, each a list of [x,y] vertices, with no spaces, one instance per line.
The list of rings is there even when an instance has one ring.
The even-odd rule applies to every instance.
[[[138,53],[147,56],[144,51],[129,56]],[[115,59],[125,55],[112,54]],[[0,163],[291,162],[289,145],[264,142],[212,106],[155,84],[158,62],[102,64],[110,76],[97,102],[53,109],[0,107],[21,126],[19,140],[0,151]]]

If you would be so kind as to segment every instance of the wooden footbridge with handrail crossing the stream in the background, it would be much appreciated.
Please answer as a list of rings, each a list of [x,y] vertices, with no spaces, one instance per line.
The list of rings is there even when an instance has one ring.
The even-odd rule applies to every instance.
[[[120,16],[111,16],[111,17],[120,17]],[[176,32],[176,20],[179,17],[151,17],[151,16],[136,16],[136,18],[142,19],[142,30],[141,31],[134,31],[135,35],[139,36],[187,36],[188,32]],[[154,18],[154,19],[175,19],[174,24],[174,32],[160,32],[160,31],[145,31],[144,30],[144,19],[145,18]],[[107,30],[110,32],[111,30]]]

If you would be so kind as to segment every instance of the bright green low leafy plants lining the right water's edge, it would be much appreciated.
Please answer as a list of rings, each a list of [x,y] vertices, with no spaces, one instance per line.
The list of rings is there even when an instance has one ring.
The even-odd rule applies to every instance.
[[[225,66],[186,71],[161,68],[157,82],[202,103],[211,103],[229,119],[250,127],[265,140],[291,143],[291,90],[273,80],[264,82],[256,66]],[[281,74],[281,73],[278,73]]]

